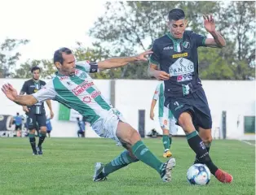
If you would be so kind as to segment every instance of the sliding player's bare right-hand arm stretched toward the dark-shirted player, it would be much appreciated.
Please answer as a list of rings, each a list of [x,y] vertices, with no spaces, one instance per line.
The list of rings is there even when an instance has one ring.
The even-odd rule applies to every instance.
[[[152,54],[151,50],[147,50],[141,54],[138,54],[134,57],[124,57],[124,58],[108,58],[104,61],[98,63],[98,68],[100,70],[110,69],[114,67],[123,67],[128,63],[134,63],[136,61],[148,61],[146,55]]]

